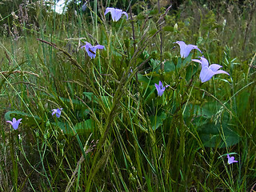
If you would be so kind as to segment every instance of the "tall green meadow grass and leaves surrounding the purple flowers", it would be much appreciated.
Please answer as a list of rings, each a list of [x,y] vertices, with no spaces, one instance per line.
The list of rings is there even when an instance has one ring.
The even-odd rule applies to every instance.
[[[170,10],[160,27],[164,8],[158,14],[140,3],[132,9],[140,11],[134,22],[125,17],[113,22],[103,16],[105,4],[94,1],[86,14],[37,9],[37,30],[16,21],[18,40],[2,34],[1,191],[250,191],[254,186],[252,4],[210,10],[185,2]],[[200,82],[201,68],[191,62],[199,52],[180,58],[173,44],[178,40],[197,45],[230,76]],[[85,42],[105,49],[90,59],[79,48]],[[159,80],[170,85],[162,97],[154,87]],[[58,107],[61,118],[51,115]],[[6,122],[13,117],[22,118],[18,130]],[[228,165],[228,153],[238,163]]]

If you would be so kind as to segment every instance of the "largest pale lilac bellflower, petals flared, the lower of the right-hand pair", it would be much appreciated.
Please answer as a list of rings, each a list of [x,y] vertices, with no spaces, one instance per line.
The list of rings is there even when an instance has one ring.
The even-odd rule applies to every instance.
[[[201,82],[209,81],[210,78],[212,78],[214,76],[214,74],[228,74],[224,70],[218,70],[222,66],[220,66],[218,64],[212,64],[209,66],[209,62],[207,61],[206,58],[203,58],[203,57],[199,57],[199,58],[201,58],[201,60],[192,59],[192,61],[201,63],[202,70],[201,70],[201,73],[199,76],[201,79]],[[230,74],[228,74],[228,75],[230,75]]]

